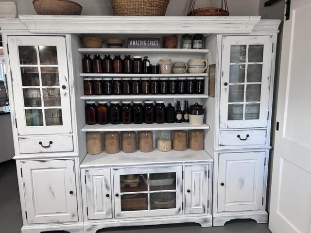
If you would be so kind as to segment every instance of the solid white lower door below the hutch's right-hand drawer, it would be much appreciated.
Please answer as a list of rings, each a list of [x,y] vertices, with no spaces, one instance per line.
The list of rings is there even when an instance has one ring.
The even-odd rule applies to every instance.
[[[219,154],[218,212],[261,210],[265,152]]]

